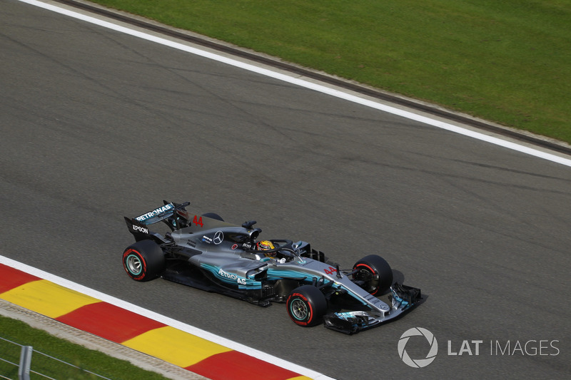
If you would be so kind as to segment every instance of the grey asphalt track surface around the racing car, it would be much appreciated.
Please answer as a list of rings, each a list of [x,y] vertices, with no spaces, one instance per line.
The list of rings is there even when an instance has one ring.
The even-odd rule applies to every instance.
[[[571,168],[19,1],[0,9],[1,255],[338,379],[570,376]],[[281,304],[133,282],[123,215],[163,199],[258,220],[342,267],[378,253],[428,299],[349,337],[296,327]],[[413,327],[439,344],[421,369],[397,349]]]

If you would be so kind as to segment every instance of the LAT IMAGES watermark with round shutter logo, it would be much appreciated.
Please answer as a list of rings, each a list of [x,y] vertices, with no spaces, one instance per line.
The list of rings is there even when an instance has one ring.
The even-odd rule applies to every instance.
[[[407,344],[415,339],[414,354],[409,354]],[[418,343],[422,349],[418,349]],[[428,343],[428,346],[426,345]],[[557,356],[560,354],[557,339],[527,339],[499,340],[463,339],[462,341],[448,340],[447,356]],[[412,345],[409,345],[409,348]],[[398,340],[398,356],[403,362],[413,368],[423,368],[436,359],[438,341],[432,332],[423,327],[408,329]],[[425,354],[426,353],[426,354]],[[425,356],[424,356],[425,354]]]

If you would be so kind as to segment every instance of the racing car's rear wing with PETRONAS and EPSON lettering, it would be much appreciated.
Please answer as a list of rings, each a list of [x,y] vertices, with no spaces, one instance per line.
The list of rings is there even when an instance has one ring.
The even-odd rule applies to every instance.
[[[190,202],[184,202],[181,204],[167,202],[166,200],[163,200],[163,202],[163,206],[157,207],[155,210],[145,212],[143,215],[139,215],[138,217],[125,217],[125,222],[127,223],[129,232],[135,236],[137,241],[145,240],[149,237],[158,237],[160,240],[163,240],[161,235],[151,232],[148,228],[149,225],[153,225],[158,222],[164,222],[169,228],[171,228],[171,230],[188,226],[188,212],[186,211],[186,206],[190,205]]]

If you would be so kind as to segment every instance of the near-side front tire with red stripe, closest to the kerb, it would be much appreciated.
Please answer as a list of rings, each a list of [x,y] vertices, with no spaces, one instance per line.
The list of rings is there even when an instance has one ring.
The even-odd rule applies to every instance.
[[[302,327],[319,324],[327,312],[325,295],[313,285],[293,289],[285,304],[291,320]]]

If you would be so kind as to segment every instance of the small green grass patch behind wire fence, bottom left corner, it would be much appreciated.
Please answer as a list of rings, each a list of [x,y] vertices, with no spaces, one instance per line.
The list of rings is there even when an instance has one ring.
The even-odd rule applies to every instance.
[[[0,316],[0,337],[23,346],[33,346],[34,351],[48,354],[74,364],[74,366],[79,366],[81,369],[87,369],[95,374],[105,376],[108,379],[166,379],[155,372],[145,371],[137,366],[133,366],[128,361],[114,359],[99,351],[86,349],[84,346],[58,339],[42,330],[33,329],[28,324],[16,319]],[[20,350],[20,346],[0,339],[1,359],[17,364],[19,363]],[[32,354],[31,370],[54,379],[100,379],[80,369],[48,359],[37,352]],[[18,368],[0,361],[0,375],[9,379],[18,379]],[[30,379],[45,379],[45,377],[31,374]]]

